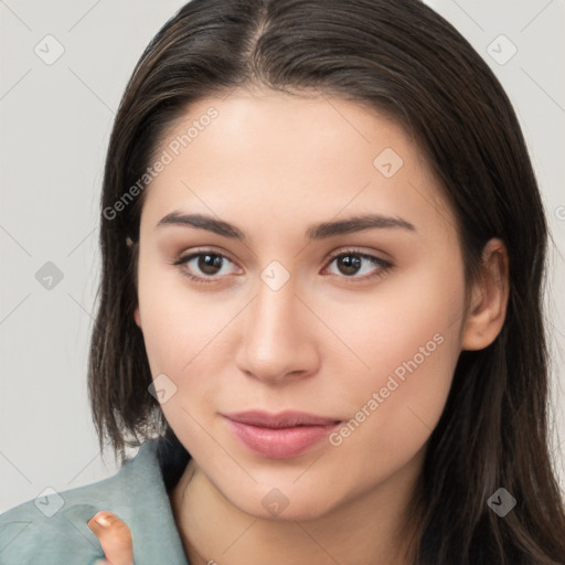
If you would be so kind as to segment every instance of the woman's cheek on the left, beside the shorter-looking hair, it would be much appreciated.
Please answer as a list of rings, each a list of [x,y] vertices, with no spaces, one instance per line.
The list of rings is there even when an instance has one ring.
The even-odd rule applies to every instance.
[[[220,363],[233,359],[226,351],[226,330],[241,305],[189,289],[172,269],[159,273],[149,263],[145,267],[140,263],[139,308],[149,366],[153,379],[164,374],[161,382],[173,391],[161,411],[184,445],[200,446],[201,457],[209,457],[214,443],[202,426],[217,409]]]

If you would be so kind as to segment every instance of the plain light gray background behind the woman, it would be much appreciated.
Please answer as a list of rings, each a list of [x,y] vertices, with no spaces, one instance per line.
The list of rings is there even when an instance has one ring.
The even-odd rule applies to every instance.
[[[104,157],[134,65],[183,3],[0,0],[0,512],[116,471],[109,451],[100,458],[86,392]],[[552,449],[565,487],[565,0],[428,3],[500,77],[542,188],[554,237]],[[501,34],[518,49],[504,64],[513,47]],[[34,52],[54,56],[57,43],[51,65]],[[63,274],[52,289],[35,278],[47,262]]]

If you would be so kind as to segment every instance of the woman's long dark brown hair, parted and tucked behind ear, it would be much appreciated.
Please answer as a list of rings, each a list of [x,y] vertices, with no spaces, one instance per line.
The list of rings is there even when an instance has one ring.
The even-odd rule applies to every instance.
[[[425,514],[414,563],[565,563],[564,505],[548,452],[540,192],[499,81],[418,0],[193,0],[148,45],[106,158],[88,373],[100,448],[107,439],[122,459],[128,444],[175,439],[148,393],[151,374],[134,321],[146,191],[130,188],[139,189],[160,140],[192,103],[249,85],[337,95],[401,124],[455,212],[468,282],[480,273],[484,244],[504,242],[507,318],[490,347],[460,354],[422,475]],[[516,500],[504,518],[488,505],[499,488]]]

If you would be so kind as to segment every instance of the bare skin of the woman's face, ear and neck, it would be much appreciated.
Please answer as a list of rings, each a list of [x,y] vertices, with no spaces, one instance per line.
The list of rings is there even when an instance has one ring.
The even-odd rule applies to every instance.
[[[186,555],[193,565],[408,563],[416,482],[458,355],[489,345],[503,323],[505,249],[489,243],[486,275],[467,296],[456,222],[419,148],[392,120],[339,98],[207,98],[156,154],[211,106],[218,116],[146,189],[135,312],[153,379],[164,373],[177,387],[164,416],[193,457],[170,493]],[[404,161],[391,178],[373,166],[385,148]],[[246,241],[157,227],[173,211],[235,224]],[[367,212],[415,230],[305,235]],[[330,255],[351,247],[393,267],[363,259],[348,275]],[[227,259],[212,274],[198,258],[173,265],[195,250]],[[260,278],[273,260],[290,276],[278,290]],[[297,409],[348,422],[438,334],[441,344],[339,446],[262,457],[222,416]],[[288,502],[277,515],[262,503],[273,489]]]

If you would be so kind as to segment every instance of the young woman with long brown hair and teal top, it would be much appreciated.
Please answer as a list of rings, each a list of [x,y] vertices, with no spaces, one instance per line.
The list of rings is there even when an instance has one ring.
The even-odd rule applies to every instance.
[[[100,227],[94,420],[142,445],[4,514],[7,563],[565,563],[543,206],[433,10],[193,0],[127,86]]]

